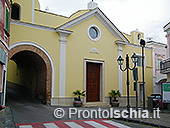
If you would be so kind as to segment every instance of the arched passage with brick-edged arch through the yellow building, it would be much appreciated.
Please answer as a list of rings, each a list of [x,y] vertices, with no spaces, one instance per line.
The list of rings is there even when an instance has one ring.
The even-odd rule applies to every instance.
[[[18,83],[21,91],[26,90],[25,93],[28,95],[50,104],[53,76],[51,61],[47,54],[35,45],[25,43],[13,46],[9,52],[9,59],[18,71],[16,76],[12,76],[18,77],[14,84]],[[8,83],[11,84],[12,81]]]

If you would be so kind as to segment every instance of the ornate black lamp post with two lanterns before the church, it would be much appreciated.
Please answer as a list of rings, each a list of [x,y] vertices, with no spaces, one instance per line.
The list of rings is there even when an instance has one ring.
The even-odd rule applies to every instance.
[[[126,81],[126,84],[127,84],[127,106],[126,107],[127,107],[128,112],[130,110],[130,104],[129,104],[129,70],[134,70],[135,67],[136,67],[137,56],[136,56],[135,53],[131,56],[131,59],[132,59],[132,62],[134,63],[133,68],[129,67],[129,56],[128,56],[128,54],[126,54],[126,67],[125,67],[125,69],[122,69],[124,59],[121,56],[119,56],[118,59],[117,59],[117,62],[120,66],[120,70],[123,71],[123,72],[127,70],[127,81]]]

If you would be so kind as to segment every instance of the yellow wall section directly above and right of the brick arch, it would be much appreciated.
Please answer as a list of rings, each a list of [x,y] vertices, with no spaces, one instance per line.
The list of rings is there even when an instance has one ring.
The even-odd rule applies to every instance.
[[[11,24],[10,45],[16,42],[33,42],[43,47],[52,57],[55,65],[55,94],[58,95],[58,71],[59,71],[59,35],[56,32],[38,30]],[[43,38],[42,38],[43,37]],[[8,68],[13,68],[11,65]],[[13,76],[11,76],[13,77]],[[9,77],[7,77],[7,80]],[[14,78],[13,78],[14,79]],[[10,81],[10,80],[9,80]]]

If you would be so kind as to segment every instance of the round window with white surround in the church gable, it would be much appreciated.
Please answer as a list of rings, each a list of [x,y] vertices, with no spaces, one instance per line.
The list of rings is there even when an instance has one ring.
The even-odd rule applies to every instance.
[[[89,28],[88,28],[88,35],[89,35],[89,38],[93,41],[98,41],[101,37],[101,31],[99,29],[98,26],[96,25],[91,25]]]

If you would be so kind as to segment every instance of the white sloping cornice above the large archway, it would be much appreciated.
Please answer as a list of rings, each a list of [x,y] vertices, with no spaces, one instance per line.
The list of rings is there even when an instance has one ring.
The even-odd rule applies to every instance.
[[[10,23],[14,24],[14,25],[28,27],[28,28],[34,28],[34,29],[45,30],[45,31],[50,31],[50,32],[56,32],[55,28],[46,27],[46,26],[42,26],[42,25],[35,25],[35,24],[31,24],[31,23],[25,23],[25,22],[14,21],[14,20],[11,20]]]

